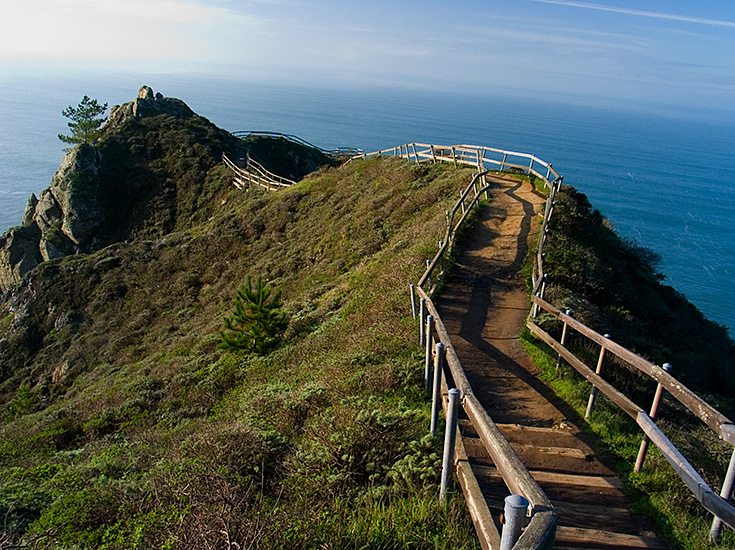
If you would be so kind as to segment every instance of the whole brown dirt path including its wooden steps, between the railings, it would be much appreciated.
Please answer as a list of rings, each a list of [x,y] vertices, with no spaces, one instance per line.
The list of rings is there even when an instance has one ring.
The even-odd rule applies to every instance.
[[[438,304],[470,385],[556,508],[555,548],[663,548],[630,514],[622,483],[577,428],[582,420],[536,377],[518,338],[530,309],[520,270],[544,199],[527,183],[491,181],[490,205],[469,231]],[[497,517],[508,490],[472,426],[463,422],[462,430]]]

